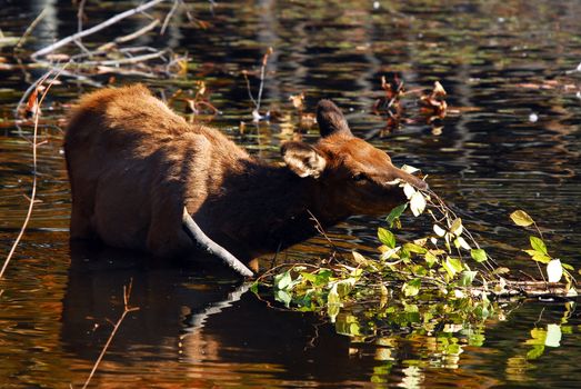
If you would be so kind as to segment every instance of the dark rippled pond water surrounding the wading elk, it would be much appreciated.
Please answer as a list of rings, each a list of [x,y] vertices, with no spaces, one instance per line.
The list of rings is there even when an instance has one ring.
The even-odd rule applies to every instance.
[[[565,73],[581,61],[579,1],[378,1],[377,8],[372,1],[219,1],[213,10],[207,1],[191,3],[209,22],[206,30],[178,14],[164,37],[152,33],[138,41],[187,51],[188,76],[117,76],[117,83],[143,81],[168,97],[204,80],[210,101],[222,111],[212,124],[271,160],[279,159],[281,141],[299,131],[289,96],[304,92],[308,111],[318,99],[332,98],[357,134],[375,134],[372,142],[398,164],[428,173],[431,188],[463,210],[465,223],[503,265],[534,271],[519,252],[527,233],[508,218],[522,208],[543,228],[554,257],[581,266],[581,73]],[[24,62],[32,50],[77,28],[69,0],[0,4],[0,29],[14,37],[49,7],[20,56]],[[86,23],[133,4],[88,1]],[[128,20],[86,42],[94,48],[134,31],[143,20]],[[263,106],[281,119],[256,127],[241,71],[256,71],[268,47],[274,53]],[[0,50],[0,66],[16,63],[10,48]],[[19,132],[12,110],[43,70],[1,69],[3,257],[26,216],[32,171],[31,127]],[[379,133],[384,118],[373,114],[372,106],[381,96],[380,77],[394,74],[408,89],[440,80],[450,114],[429,124],[411,99],[408,116],[415,120]],[[109,76],[94,79],[107,82]],[[256,78],[250,79],[256,89]],[[61,119],[71,101],[92,89],[63,78],[44,103],[41,202],[0,283],[0,387],[82,386],[122,312],[130,280],[130,303],[140,309],[117,332],[92,380],[98,387],[581,386],[581,320],[574,303],[513,307],[488,322],[480,341],[467,340],[470,329],[451,327],[440,329],[445,336],[394,329],[350,338],[324,317],[270,307],[228,275],[70,247]],[[187,114],[183,101],[173,108]],[[247,122],[243,133],[241,121]],[[317,131],[304,138],[314,140]],[[330,235],[345,250],[372,248],[378,223],[352,218]],[[407,227],[408,233],[414,228]],[[311,260],[328,252],[324,240],[314,238],[286,255]],[[558,341],[539,341],[541,332]]]

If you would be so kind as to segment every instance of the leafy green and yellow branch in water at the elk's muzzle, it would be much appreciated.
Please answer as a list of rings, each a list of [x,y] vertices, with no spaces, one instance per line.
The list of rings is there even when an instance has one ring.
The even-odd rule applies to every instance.
[[[422,328],[430,333],[457,326],[471,329],[475,338],[469,342],[478,342],[478,328],[484,320],[505,315],[509,301],[577,296],[573,267],[549,253],[527,212],[518,210],[510,217],[517,226],[533,227],[537,232],[523,251],[537,263],[541,281],[519,280],[510,269],[499,267],[435,193],[403,181],[399,184],[408,201],[395,207],[378,229],[377,256],[367,258],[353,251],[333,256],[322,267],[280,266],[262,275],[252,290],[259,297],[271,291],[288,309],[325,315],[338,332],[353,337],[377,335],[385,328]],[[425,237],[413,241],[397,237],[394,231],[401,228],[400,218],[407,210],[430,218],[432,230]]]

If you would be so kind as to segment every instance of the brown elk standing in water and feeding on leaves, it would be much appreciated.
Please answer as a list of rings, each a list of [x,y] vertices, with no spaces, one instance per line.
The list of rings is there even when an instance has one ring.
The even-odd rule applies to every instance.
[[[405,200],[399,182],[427,187],[353,136],[331,101],[319,102],[317,120],[314,144],[286,142],[284,164],[270,164],[141,84],[89,93],[64,137],[71,239],[157,257],[198,246],[252,276],[242,262],[314,236],[312,216],[329,227],[387,213]]]

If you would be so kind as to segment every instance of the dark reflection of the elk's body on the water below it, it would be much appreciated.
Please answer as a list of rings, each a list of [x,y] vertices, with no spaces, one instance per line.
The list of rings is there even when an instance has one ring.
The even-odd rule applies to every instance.
[[[373,360],[349,357],[349,338],[311,313],[272,309],[236,276],[208,265],[168,263],[134,252],[71,247],[61,341],[74,358],[94,361],[123,311],[129,313],[107,353],[120,368],[156,360],[204,370],[210,363],[277,367],[277,379],[340,382],[365,377]],[[230,277],[229,277],[230,276]],[[330,352],[332,350],[332,352]],[[358,371],[360,370],[360,371]],[[274,378],[274,377],[273,377]]]

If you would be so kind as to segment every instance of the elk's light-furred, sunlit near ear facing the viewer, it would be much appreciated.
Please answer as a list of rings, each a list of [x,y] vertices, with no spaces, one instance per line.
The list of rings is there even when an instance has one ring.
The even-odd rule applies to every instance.
[[[327,166],[327,160],[313,147],[303,142],[286,142],[281,153],[289,169],[301,178],[319,178]]]

